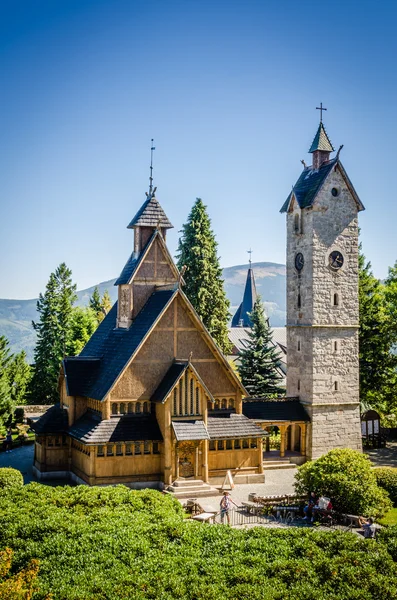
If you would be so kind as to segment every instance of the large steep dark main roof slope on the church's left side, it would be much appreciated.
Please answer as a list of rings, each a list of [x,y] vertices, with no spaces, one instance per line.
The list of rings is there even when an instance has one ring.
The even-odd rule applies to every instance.
[[[154,292],[129,329],[116,329],[117,302],[93,333],[72,367],[73,391],[77,396],[88,396],[103,400],[110,388],[126,367],[156,319],[162,314],[176,290]],[[95,377],[88,371],[88,381],[84,364],[87,359],[100,359],[95,366]],[[74,363],[82,362],[83,366]],[[66,362],[66,376],[69,376],[69,361]]]

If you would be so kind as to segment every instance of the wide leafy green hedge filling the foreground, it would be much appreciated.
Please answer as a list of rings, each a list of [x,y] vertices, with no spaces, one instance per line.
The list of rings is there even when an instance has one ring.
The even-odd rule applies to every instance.
[[[153,490],[51,488],[0,495],[13,572],[39,559],[33,600],[391,600],[397,532],[233,530],[184,519]],[[392,551],[389,552],[388,548]]]

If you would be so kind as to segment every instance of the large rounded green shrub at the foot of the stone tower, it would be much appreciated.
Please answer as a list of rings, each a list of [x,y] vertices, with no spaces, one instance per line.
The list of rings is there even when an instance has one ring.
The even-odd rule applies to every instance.
[[[369,458],[349,448],[331,450],[305,463],[295,480],[297,493],[329,496],[340,512],[382,516],[391,506],[387,493],[376,483]]]

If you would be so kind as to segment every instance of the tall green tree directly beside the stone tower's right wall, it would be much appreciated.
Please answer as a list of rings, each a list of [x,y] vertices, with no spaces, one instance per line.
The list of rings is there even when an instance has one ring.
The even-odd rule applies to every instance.
[[[390,412],[397,392],[397,357],[392,352],[393,324],[387,309],[384,287],[372,274],[371,263],[366,263],[360,253],[360,399],[383,414]]]

